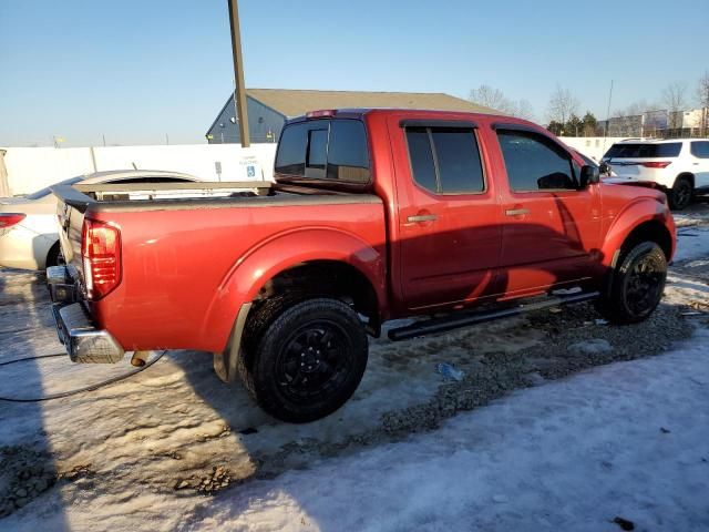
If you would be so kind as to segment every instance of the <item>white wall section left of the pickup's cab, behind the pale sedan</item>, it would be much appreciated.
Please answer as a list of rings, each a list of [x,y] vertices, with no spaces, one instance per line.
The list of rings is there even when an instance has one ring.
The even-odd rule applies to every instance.
[[[215,162],[222,163],[222,181],[244,181],[244,161],[254,157],[263,178],[273,177],[276,144],[183,144],[171,146],[7,147],[4,164],[11,194],[28,194],[81,174],[105,170],[167,170],[218,181]],[[92,153],[93,152],[93,153]],[[256,178],[261,178],[257,175]]]

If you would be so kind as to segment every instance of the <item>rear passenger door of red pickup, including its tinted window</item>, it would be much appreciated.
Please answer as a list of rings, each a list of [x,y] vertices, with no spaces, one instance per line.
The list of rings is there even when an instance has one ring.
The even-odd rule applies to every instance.
[[[397,161],[400,282],[410,309],[499,293],[501,228],[477,124],[389,119]]]

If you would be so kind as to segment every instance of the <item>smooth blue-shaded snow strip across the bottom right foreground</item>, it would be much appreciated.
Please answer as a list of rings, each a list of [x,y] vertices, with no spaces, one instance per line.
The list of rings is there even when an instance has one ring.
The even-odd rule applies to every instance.
[[[186,530],[709,529],[709,331],[517,391],[436,432],[259,481]]]

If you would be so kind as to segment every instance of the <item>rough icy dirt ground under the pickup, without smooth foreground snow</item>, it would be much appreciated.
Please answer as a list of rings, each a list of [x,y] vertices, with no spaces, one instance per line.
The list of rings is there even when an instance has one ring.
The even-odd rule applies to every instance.
[[[680,254],[648,321],[612,327],[579,305],[424,339],[372,340],[356,396],[318,422],[269,418],[239,383],[214,376],[208,354],[193,351],[169,351],[145,372],[89,393],[0,402],[0,528],[3,516],[28,512],[58,524],[70,505],[89,512],[111,504],[116,514],[130,508],[138,515],[150,515],[155,501],[178,509],[255,478],[433,430],[515,388],[659,354],[709,311],[709,206],[678,222]],[[42,276],[0,270],[0,364],[60,351]],[[438,362],[453,364],[464,380],[444,382]],[[42,397],[126,370],[127,358],[111,367],[30,360],[0,367],[0,396]]]

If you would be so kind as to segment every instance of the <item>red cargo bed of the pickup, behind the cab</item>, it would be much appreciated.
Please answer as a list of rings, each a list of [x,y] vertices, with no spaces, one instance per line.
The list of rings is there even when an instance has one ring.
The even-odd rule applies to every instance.
[[[258,286],[254,276],[268,279],[274,268],[308,260],[310,252],[321,254],[323,246],[332,258],[342,258],[335,245],[328,249],[328,237],[335,233],[357,242],[367,255],[362,260],[376,264],[377,275],[384,276],[384,212],[376,195],[277,190],[250,182],[74,185],[52,191],[60,200],[62,254],[80,293],[84,218],[120,229],[121,282],[104,298],[85,303],[96,325],[110,330],[125,350],[224,349],[235,317],[228,314],[233,309],[227,313],[229,298],[242,289],[234,277],[253,267],[246,263],[264,247],[269,250],[254,258],[263,267],[250,270],[249,285]],[[279,246],[265,246],[280,241],[282,256]],[[372,258],[372,249],[384,258]],[[156,321],[160,327],[154,327]]]

